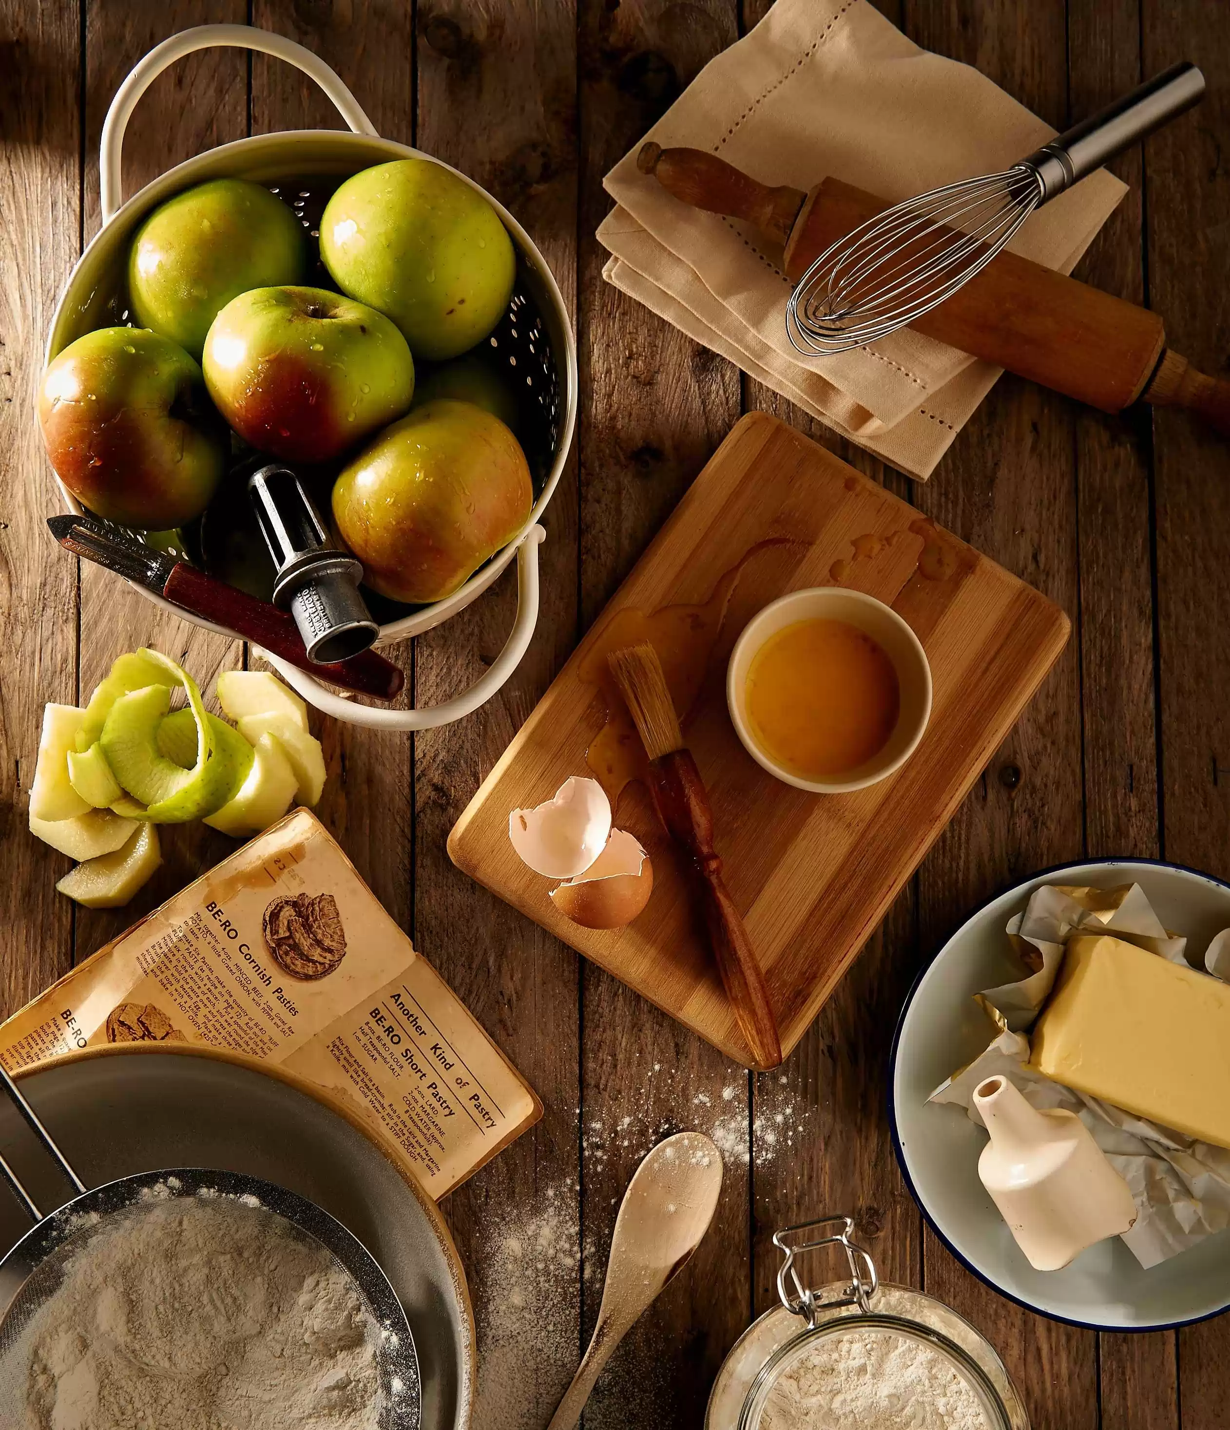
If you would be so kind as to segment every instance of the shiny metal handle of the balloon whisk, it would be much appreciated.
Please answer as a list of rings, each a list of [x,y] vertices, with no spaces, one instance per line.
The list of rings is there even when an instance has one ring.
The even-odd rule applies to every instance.
[[[1041,184],[1038,203],[1046,203],[1176,114],[1191,109],[1203,96],[1204,76],[1200,70],[1186,60],[1171,64],[1130,94],[1043,144],[1021,160],[1018,167],[1031,169],[1037,174]]]

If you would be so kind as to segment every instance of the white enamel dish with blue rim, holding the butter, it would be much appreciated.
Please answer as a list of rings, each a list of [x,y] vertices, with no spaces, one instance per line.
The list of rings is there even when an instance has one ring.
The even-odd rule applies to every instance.
[[[944,1078],[985,1047],[991,1025],[971,994],[1020,977],[1004,925],[1041,884],[1140,884],[1161,922],[1187,935],[1197,964],[1209,940],[1230,928],[1230,885],[1148,859],[1046,869],[984,904],[923,970],[897,1024],[888,1113],[901,1171],[948,1250],[1031,1311],[1116,1331],[1166,1330],[1217,1316],[1230,1307],[1229,1233],[1147,1271],[1118,1237],[1090,1247],[1061,1271],[1035,1271],[978,1181],[987,1134],[963,1108],[927,1104]]]

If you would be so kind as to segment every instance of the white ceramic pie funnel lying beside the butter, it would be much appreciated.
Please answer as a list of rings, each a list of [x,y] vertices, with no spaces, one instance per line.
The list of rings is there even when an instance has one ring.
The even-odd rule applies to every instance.
[[[1031,1107],[1003,1075],[974,1088],[974,1105],[990,1134],[978,1175],[1035,1270],[1057,1271],[1136,1221],[1127,1183],[1074,1113]]]

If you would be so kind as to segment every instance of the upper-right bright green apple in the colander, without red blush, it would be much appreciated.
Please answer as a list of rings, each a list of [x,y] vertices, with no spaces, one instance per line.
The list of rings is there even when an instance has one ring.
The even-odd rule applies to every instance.
[[[488,200],[443,164],[395,159],[348,179],[320,219],[343,293],[400,327],[416,358],[456,358],[508,310],[516,253]]]

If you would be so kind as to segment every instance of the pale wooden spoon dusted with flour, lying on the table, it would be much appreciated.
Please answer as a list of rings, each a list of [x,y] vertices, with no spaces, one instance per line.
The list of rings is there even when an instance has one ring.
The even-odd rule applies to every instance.
[[[704,1133],[676,1133],[645,1157],[619,1205],[598,1324],[546,1430],[572,1430],[611,1353],[701,1244],[722,1190],[722,1157]]]

